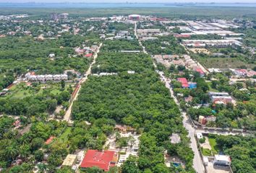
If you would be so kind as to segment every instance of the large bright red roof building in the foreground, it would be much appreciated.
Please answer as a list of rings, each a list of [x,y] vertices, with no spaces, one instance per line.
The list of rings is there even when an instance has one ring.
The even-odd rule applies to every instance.
[[[98,167],[108,171],[109,167],[113,167],[116,164],[118,160],[116,158],[118,158],[118,154],[115,151],[88,150],[80,167]]]

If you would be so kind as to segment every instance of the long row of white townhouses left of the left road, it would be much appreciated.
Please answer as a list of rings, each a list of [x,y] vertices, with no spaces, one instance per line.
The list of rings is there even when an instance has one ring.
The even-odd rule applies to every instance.
[[[47,74],[47,75],[35,75],[34,72],[25,74],[25,80],[27,81],[67,81],[67,74]]]

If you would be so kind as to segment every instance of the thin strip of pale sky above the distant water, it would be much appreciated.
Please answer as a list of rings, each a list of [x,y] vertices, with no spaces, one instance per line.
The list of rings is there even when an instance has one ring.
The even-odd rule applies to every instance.
[[[210,2],[215,2],[215,3],[256,3],[256,0],[0,0],[0,2],[16,2],[16,3],[23,3],[23,2],[29,2],[29,1],[34,1],[34,2],[45,2],[45,3],[50,3],[50,2],[64,2],[64,1],[69,1],[69,2],[94,2],[94,3],[100,3],[100,2],[105,2],[105,3],[125,3],[126,1],[128,2],[137,2],[137,3],[174,3],[174,2],[179,2],[179,3],[187,3],[187,2],[204,2],[204,3],[210,3]]]

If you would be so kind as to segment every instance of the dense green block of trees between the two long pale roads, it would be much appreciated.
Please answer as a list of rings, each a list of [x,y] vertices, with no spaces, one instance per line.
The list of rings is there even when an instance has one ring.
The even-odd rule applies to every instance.
[[[91,123],[98,118],[107,118],[115,123],[131,125],[142,132],[139,158],[129,158],[121,167],[122,172],[175,172],[176,169],[170,169],[164,164],[164,151],[179,156],[186,163],[185,172],[194,172],[193,152],[189,148],[187,131],[182,126],[178,107],[158,74],[153,71],[150,57],[143,54],[132,56],[134,58],[129,54],[119,56],[118,53],[103,53],[99,56],[95,66],[104,63],[119,66],[115,69],[119,74],[90,76],[74,102],[72,117],[74,120],[88,120]],[[130,58],[134,61],[132,64],[137,63],[135,68],[141,69],[138,73],[124,72],[132,67],[129,64]],[[168,138],[171,133],[179,133],[182,142],[171,144]]]

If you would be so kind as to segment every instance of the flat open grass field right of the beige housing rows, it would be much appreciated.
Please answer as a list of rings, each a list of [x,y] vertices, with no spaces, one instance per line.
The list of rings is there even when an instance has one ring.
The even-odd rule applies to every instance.
[[[237,58],[198,58],[197,61],[206,68],[239,68],[239,66],[253,68],[255,66],[255,64],[245,63]]]

